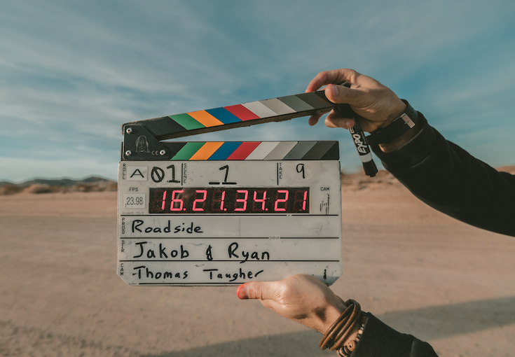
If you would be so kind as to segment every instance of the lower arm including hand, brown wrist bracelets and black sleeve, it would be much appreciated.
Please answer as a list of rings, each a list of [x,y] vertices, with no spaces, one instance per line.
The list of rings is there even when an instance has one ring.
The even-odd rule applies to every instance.
[[[277,314],[322,332],[322,349],[352,351],[352,357],[434,357],[429,344],[362,314],[354,300],[344,302],[322,281],[298,274],[280,281],[250,281],[236,291],[242,300],[259,299]],[[359,334],[359,336],[358,336]],[[356,342],[356,343],[354,343]]]

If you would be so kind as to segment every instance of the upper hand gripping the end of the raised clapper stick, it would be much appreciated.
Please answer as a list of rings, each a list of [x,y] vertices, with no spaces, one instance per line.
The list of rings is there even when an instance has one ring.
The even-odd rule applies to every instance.
[[[345,80],[350,82],[350,88],[336,85]],[[320,72],[311,80],[305,92],[314,92],[323,85],[327,85],[325,87],[327,99],[333,103],[350,104],[350,107],[364,118],[362,127],[366,132],[373,132],[390,125],[406,110],[406,104],[390,88],[352,69]],[[311,116],[309,124],[315,125],[320,117],[321,115]],[[354,120],[342,118],[334,110],[325,120],[327,127],[350,129],[354,124]]]

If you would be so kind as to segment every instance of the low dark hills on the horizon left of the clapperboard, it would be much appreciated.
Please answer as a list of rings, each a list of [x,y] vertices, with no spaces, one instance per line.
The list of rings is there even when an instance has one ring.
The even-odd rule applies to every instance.
[[[116,191],[115,181],[91,176],[83,180],[71,179],[34,179],[23,183],[0,182],[0,195],[12,195],[14,193],[53,193],[53,192],[100,192]]]

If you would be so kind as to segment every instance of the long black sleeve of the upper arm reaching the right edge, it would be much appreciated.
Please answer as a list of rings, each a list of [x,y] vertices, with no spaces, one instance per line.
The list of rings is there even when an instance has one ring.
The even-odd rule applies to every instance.
[[[372,149],[420,200],[448,216],[515,237],[515,176],[486,165],[446,141],[418,113],[423,130],[391,153]]]

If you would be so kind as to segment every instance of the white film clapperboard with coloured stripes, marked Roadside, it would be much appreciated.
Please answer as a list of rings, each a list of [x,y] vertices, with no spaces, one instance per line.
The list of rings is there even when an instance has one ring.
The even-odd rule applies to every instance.
[[[327,113],[323,91],[122,126],[118,275],[231,286],[342,274],[338,141],[163,141]]]

